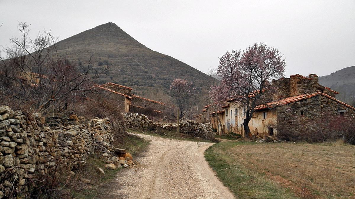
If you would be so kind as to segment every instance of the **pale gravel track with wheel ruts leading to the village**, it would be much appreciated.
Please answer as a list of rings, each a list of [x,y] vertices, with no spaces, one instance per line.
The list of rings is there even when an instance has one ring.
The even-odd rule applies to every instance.
[[[234,198],[203,157],[213,143],[140,136],[152,140],[141,165],[122,172],[105,198]]]

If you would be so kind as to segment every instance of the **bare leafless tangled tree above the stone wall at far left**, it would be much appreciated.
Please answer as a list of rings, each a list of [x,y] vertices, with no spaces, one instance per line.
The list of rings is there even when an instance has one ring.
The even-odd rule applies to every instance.
[[[12,46],[3,47],[7,57],[0,57],[0,92],[9,103],[28,106],[33,112],[66,108],[68,101],[85,97],[92,80],[110,67],[93,65],[92,56],[86,64],[75,65],[58,55],[51,30],[31,39],[27,23],[17,28],[21,36],[13,37]]]

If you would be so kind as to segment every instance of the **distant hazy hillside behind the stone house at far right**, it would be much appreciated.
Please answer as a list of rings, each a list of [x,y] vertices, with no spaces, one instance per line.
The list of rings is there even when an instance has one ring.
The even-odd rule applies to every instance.
[[[330,75],[321,76],[319,77],[319,83],[338,91],[340,94],[337,95],[337,98],[350,103],[350,97],[355,95],[355,66],[346,67]]]

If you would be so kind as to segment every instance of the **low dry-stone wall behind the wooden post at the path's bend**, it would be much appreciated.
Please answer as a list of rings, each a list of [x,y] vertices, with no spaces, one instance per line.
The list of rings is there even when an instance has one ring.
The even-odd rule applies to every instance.
[[[141,129],[167,129],[167,130],[178,130],[177,124],[159,124],[148,119],[146,115],[136,114],[124,114],[124,120],[127,127],[131,128],[141,128]],[[187,135],[192,135],[195,137],[200,137],[205,140],[214,140],[211,125],[202,124],[196,121],[182,121],[179,126],[179,130]]]

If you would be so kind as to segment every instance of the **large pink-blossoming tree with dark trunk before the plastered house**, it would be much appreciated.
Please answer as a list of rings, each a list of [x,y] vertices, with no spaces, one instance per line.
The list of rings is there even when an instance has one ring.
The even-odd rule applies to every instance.
[[[249,122],[255,107],[262,104],[265,93],[272,93],[272,79],[284,76],[286,62],[283,55],[266,44],[253,44],[245,51],[227,51],[219,58],[217,75],[221,78],[218,86],[212,86],[210,95],[218,102],[234,98],[245,108],[243,121],[245,136],[249,137]]]

